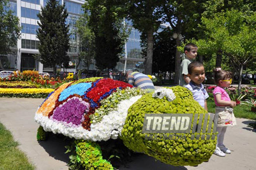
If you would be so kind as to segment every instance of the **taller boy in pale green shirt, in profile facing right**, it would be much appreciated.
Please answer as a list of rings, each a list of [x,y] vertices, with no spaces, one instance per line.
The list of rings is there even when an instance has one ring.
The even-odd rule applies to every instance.
[[[180,81],[179,85],[185,87],[190,82],[190,78],[188,76],[188,66],[192,62],[193,59],[197,56],[197,46],[194,43],[188,43],[184,47],[184,53],[186,58],[182,61],[180,65]]]

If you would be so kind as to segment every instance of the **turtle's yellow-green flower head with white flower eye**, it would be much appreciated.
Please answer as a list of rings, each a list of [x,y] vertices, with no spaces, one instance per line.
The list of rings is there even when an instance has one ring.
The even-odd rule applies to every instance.
[[[128,110],[121,139],[129,149],[153,156],[157,160],[170,165],[195,166],[209,160],[215,150],[216,139],[192,140],[190,139],[192,133],[190,133],[187,134],[187,139],[164,140],[162,138],[162,140],[159,140],[161,135],[175,134],[158,133],[153,135],[160,138],[149,140],[148,137],[152,134],[142,133],[146,113],[193,113],[193,119],[196,113],[206,114],[207,111],[193,99],[192,93],[188,89],[180,86],[159,88],[153,93],[142,96]],[[184,134],[178,135],[182,136]],[[212,135],[214,138],[216,137],[216,133]],[[154,136],[153,138],[155,138]]]

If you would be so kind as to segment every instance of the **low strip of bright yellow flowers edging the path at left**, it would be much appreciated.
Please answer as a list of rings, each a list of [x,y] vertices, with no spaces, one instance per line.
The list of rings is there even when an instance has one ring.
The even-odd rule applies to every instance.
[[[54,89],[17,89],[17,88],[0,88],[0,97],[14,98],[46,98]]]

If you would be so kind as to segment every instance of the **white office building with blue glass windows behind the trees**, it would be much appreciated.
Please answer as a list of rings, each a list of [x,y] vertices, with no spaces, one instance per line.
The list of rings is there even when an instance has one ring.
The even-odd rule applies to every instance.
[[[43,64],[36,61],[33,55],[38,54],[39,39],[36,38],[37,22],[39,21],[37,14],[41,7],[46,5],[47,0],[10,0],[10,9],[14,11],[14,15],[19,17],[21,30],[21,39],[17,41],[17,46],[11,48],[12,52],[8,55],[0,55],[0,70],[33,70],[39,72],[50,72],[52,68],[43,67]],[[60,0],[61,4],[66,4],[68,17],[66,23],[69,24],[70,48],[67,55],[71,60],[76,60],[78,64],[79,53],[79,35],[75,27],[76,21],[82,14],[81,6],[85,0]],[[128,22],[131,33],[124,47],[126,50],[123,57],[120,58],[116,66],[117,71],[127,69],[137,69],[144,72],[144,58],[142,58],[140,47],[140,33],[132,27],[132,23]],[[126,67],[125,67],[126,60]],[[84,69],[84,64],[80,62],[77,69]],[[90,70],[96,70],[95,63],[90,65]]]

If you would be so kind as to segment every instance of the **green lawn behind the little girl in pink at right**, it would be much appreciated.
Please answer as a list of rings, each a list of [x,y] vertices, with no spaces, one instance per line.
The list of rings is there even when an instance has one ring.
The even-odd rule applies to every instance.
[[[212,95],[209,94],[209,98],[207,99],[207,108],[209,113],[215,113],[215,103]],[[234,108],[234,114],[237,118],[248,118],[251,120],[256,120],[256,112],[251,112],[251,107],[246,105],[238,105]]]

